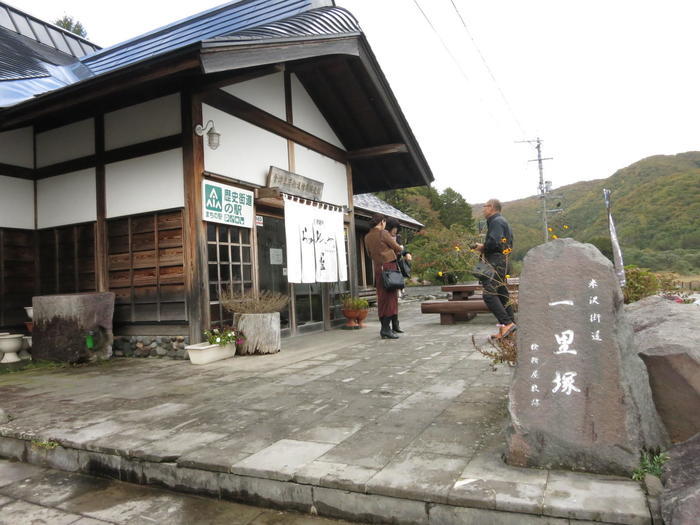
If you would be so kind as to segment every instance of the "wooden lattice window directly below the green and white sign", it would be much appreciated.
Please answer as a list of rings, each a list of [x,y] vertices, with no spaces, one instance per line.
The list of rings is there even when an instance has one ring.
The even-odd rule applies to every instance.
[[[251,252],[248,228],[207,223],[209,310],[212,325],[231,321],[232,315],[219,303],[222,290],[247,292],[253,288]]]

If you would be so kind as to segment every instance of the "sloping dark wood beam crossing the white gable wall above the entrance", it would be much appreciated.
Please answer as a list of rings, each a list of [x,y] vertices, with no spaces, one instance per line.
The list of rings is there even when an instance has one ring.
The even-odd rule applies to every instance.
[[[330,157],[338,162],[345,163],[347,153],[330,142],[326,142],[306,131],[299,129],[282,119],[263,111],[260,108],[234,97],[225,91],[216,90],[206,93],[203,96],[202,102],[212,106],[220,111],[238,117],[251,124],[254,124],[262,129],[270,131],[276,135],[292,140],[297,144],[306,146],[307,148]],[[183,128],[184,129],[184,128]]]

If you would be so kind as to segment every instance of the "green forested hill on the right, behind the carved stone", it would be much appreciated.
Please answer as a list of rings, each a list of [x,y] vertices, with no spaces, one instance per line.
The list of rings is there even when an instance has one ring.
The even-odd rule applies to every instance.
[[[686,259],[675,271],[700,269],[700,152],[657,155],[618,170],[607,179],[578,182],[552,191],[550,209],[561,203],[562,213],[550,215],[550,235],[583,242],[609,237],[603,188],[612,191],[613,218],[623,250],[640,255],[672,251]],[[475,216],[481,207],[474,206]],[[513,226],[514,255],[521,259],[544,238],[538,197],[503,203],[503,215]],[[628,258],[629,259],[629,258]],[[642,266],[668,266],[647,258]],[[627,261],[626,261],[627,262]]]

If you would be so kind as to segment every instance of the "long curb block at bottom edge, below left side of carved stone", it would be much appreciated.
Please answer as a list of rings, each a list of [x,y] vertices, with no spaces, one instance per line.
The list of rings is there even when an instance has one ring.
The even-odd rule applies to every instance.
[[[573,525],[568,519],[448,505],[435,505],[429,512],[430,523],[440,525]]]

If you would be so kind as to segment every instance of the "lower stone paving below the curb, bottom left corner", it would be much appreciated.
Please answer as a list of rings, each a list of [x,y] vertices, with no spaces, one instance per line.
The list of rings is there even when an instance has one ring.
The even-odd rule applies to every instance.
[[[0,460],[0,525],[349,525]]]

